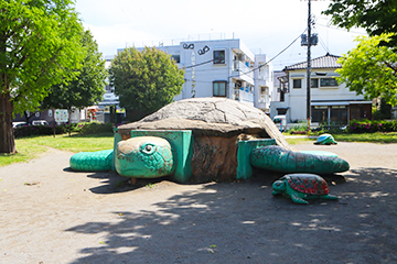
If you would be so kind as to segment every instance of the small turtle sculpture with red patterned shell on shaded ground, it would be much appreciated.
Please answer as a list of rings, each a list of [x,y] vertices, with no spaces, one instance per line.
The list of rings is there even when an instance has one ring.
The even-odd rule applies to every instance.
[[[308,205],[310,199],[336,200],[337,197],[329,195],[326,182],[315,174],[287,174],[272,185],[271,195],[290,197],[293,202]]]

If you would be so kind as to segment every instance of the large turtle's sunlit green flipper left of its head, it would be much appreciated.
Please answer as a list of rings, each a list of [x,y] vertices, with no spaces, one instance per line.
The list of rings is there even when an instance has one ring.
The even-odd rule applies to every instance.
[[[71,168],[85,172],[110,170],[112,153],[112,150],[107,150],[74,154],[69,160]]]

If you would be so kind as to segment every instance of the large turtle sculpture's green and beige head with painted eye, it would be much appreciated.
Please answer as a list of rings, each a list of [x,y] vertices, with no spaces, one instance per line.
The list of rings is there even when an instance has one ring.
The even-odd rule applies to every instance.
[[[116,170],[127,177],[155,178],[174,172],[170,143],[157,136],[137,136],[120,141],[116,150]]]

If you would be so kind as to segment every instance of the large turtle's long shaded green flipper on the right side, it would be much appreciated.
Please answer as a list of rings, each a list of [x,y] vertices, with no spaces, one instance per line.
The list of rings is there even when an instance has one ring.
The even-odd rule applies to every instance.
[[[339,157],[293,152],[278,145],[254,150],[250,163],[255,167],[280,173],[334,174],[350,168],[348,163]]]

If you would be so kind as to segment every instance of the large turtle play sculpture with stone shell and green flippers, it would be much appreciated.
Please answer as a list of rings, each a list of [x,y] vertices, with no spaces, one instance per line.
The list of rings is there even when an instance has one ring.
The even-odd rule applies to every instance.
[[[71,168],[76,170],[114,169],[132,179],[170,175],[181,183],[248,178],[253,166],[287,173],[348,169],[347,162],[335,156],[297,155],[262,111],[226,98],[170,103],[118,127],[112,152],[77,153],[71,158]]]

